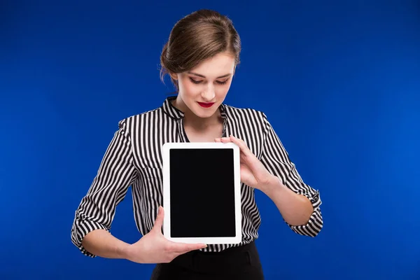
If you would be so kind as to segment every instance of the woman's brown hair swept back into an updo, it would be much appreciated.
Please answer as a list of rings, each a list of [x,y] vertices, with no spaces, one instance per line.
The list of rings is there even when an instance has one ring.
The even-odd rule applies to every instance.
[[[230,52],[239,64],[241,39],[232,20],[214,10],[197,10],[182,18],[172,28],[160,55],[160,78],[169,72],[189,71],[220,52]],[[176,80],[171,77],[178,92]]]

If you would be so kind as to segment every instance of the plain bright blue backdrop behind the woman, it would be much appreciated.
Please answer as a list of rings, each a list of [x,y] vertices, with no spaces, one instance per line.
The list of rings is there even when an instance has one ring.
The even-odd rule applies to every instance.
[[[172,92],[160,51],[199,8],[242,38],[226,103],[265,111],[321,191],[315,239],[258,193],[267,279],[420,279],[419,1],[139,2],[1,1],[0,279],[148,279],[83,256],[71,223],[118,120]],[[141,237],[130,192],[113,234]]]

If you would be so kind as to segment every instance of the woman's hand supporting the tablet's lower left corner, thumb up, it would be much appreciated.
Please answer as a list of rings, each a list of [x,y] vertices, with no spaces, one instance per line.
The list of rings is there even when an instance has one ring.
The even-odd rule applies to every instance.
[[[186,244],[172,242],[162,235],[164,217],[163,207],[159,207],[158,216],[151,232],[141,237],[139,241],[127,246],[126,259],[138,263],[171,262],[179,255],[189,251],[206,248],[206,244]]]

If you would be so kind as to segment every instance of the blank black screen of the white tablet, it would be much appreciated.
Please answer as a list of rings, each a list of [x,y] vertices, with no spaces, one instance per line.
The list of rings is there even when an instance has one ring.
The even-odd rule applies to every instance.
[[[171,237],[235,237],[233,149],[169,153]]]

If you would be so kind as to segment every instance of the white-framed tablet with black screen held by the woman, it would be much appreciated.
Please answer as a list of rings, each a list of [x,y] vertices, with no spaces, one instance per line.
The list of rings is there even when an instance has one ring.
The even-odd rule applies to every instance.
[[[167,143],[162,160],[164,236],[183,243],[241,242],[239,147]]]

